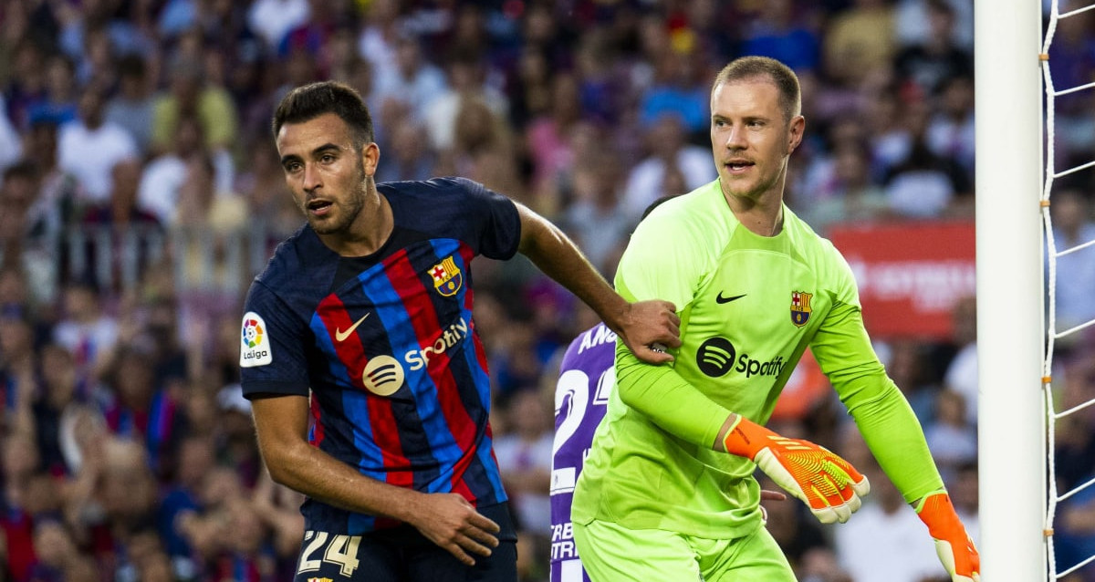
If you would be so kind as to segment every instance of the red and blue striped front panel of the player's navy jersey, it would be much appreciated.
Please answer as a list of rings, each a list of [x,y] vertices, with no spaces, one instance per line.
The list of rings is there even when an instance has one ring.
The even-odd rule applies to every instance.
[[[450,257],[462,281],[445,294],[431,271]],[[311,440],[371,478],[493,504],[506,496],[491,442],[486,356],[472,323],[472,257],[457,240],[424,240],[320,302],[310,327],[327,369],[313,373],[328,389],[313,392]],[[402,368],[403,384],[378,394],[364,374],[373,360],[389,359]],[[349,533],[391,525],[348,519]]]

